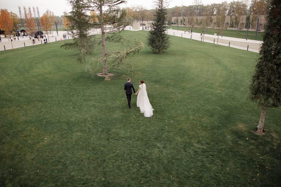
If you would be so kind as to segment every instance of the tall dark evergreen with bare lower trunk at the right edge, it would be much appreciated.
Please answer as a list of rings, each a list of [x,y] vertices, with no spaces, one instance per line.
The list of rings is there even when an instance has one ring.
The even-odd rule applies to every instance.
[[[257,134],[261,135],[267,108],[281,104],[281,1],[272,0],[263,44],[250,85],[250,98],[262,107]]]

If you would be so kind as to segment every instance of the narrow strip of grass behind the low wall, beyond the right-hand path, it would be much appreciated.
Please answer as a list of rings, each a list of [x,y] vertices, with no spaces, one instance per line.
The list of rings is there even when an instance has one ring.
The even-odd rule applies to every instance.
[[[178,29],[178,26],[168,26],[168,28],[172,28],[174,30],[177,30]],[[188,31],[190,27],[187,26],[179,26],[179,30],[180,31],[184,31],[186,29],[186,31]],[[194,27],[193,28],[193,32],[198,32],[200,33],[201,32],[201,29],[200,28],[197,28],[197,27]],[[214,35],[214,33],[217,33],[217,30],[216,29],[212,29],[212,28],[207,28],[206,31],[205,31],[205,34],[211,34],[211,35]],[[246,35],[247,35],[247,31],[241,31],[241,30],[226,30],[224,29],[224,34],[223,36],[229,36],[229,37],[234,37],[234,38],[243,38],[243,39],[246,39]],[[256,36],[256,32],[255,31],[249,31],[248,33],[248,39],[249,40],[259,40],[259,41],[262,41],[263,40],[263,36],[264,36],[264,33],[263,32],[258,32],[258,36],[257,36],[257,39],[255,39],[255,36]]]

